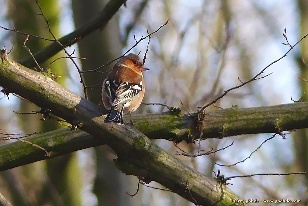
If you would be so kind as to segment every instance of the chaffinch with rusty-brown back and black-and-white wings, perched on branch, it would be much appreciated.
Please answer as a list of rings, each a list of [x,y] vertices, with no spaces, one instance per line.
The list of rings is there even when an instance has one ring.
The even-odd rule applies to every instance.
[[[123,124],[123,113],[131,114],[140,106],[145,90],[142,72],[146,70],[149,69],[132,53],[115,63],[103,82],[102,100],[109,109],[104,122]]]

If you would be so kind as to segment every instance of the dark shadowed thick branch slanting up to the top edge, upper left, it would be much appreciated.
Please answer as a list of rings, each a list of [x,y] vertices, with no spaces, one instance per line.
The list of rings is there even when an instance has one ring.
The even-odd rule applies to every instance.
[[[71,46],[72,44],[77,43],[80,39],[87,36],[91,32],[95,31],[96,29],[102,29],[106,26],[108,21],[112,18],[112,16],[119,10],[120,6],[125,3],[126,0],[110,0],[106,6],[103,8],[99,14],[94,16],[90,19],[86,24],[84,24],[79,29],[67,34],[66,36],[61,37],[59,42],[61,44],[67,46]],[[49,46],[44,48],[43,50],[34,54],[34,58],[37,62],[42,63],[61,51],[63,48],[57,43],[52,42]],[[35,66],[35,62],[33,61],[32,57],[24,58],[18,63],[25,65],[27,67]]]

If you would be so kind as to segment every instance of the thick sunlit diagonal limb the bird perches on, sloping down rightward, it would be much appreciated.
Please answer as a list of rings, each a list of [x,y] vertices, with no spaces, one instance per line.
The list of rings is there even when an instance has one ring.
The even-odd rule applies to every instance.
[[[4,50],[0,57],[0,85],[6,92],[50,109],[109,145],[118,155],[116,166],[124,173],[142,177],[145,182],[156,181],[198,205],[229,205],[239,199],[216,179],[184,165],[134,127],[103,123],[105,116],[99,106],[10,60]]]

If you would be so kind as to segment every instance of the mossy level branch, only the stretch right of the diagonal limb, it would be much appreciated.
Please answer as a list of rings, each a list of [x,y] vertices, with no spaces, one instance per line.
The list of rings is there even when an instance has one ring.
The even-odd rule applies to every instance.
[[[195,134],[196,120],[188,115],[164,112],[134,115],[133,119],[136,128],[150,139],[191,142],[195,136],[199,138]],[[207,111],[201,125],[203,138],[308,128],[308,103]]]

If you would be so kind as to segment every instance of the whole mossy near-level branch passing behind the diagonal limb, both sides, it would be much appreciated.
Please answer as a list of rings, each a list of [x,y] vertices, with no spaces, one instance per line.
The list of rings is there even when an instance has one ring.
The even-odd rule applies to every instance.
[[[230,115],[230,112],[233,115]],[[224,135],[278,132],[279,128],[281,131],[307,128],[307,114],[308,103],[305,102],[270,107],[209,111],[206,112],[203,124],[203,137],[222,138]],[[126,116],[126,119],[128,121],[129,117]],[[187,132],[193,129],[193,127],[188,127],[193,125],[193,120],[188,120],[188,116],[179,117],[170,114],[170,112],[139,114],[134,115],[133,119],[135,127],[150,139],[161,138],[169,141],[188,141]],[[244,122],[245,124],[243,124]],[[225,125],[228,125],[228,127]],[[52,145],[50,144],[50,139],[52,139]],[[102,139],[93,137],[79,129],[72,131],[71,128],[33,135],[25,138],[25,140],[40,145],[46,148],[47,151],[51,151],[51,156],[47,157],[46,153],[41,149],[34,149],[31,145],[23,142],[17,141],[3,145],[0,146],[0,171],[104,144]],[[13,151],[23,152],[16,154]]]

